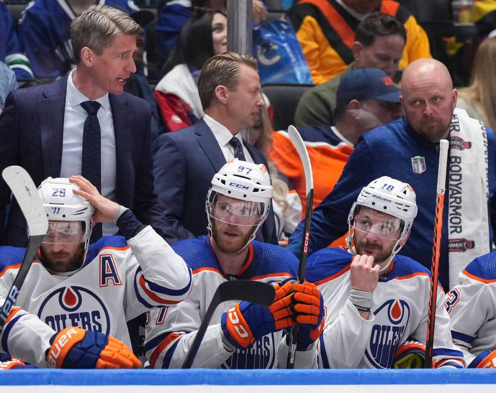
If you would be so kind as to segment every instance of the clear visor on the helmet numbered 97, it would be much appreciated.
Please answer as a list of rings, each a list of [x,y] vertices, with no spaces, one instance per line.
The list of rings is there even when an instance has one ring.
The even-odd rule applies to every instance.
[[[263,203],[216,194],[207,213],[211,218],[226,224],[256,226],[262,221]]]

